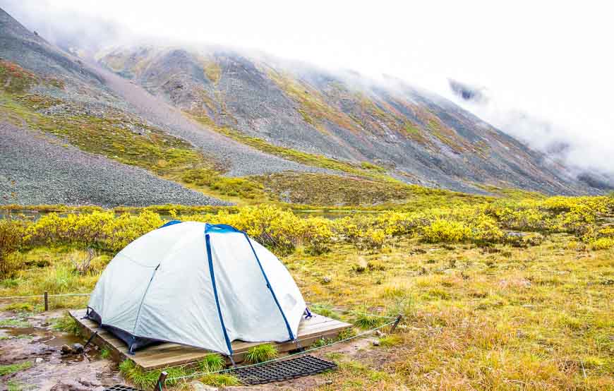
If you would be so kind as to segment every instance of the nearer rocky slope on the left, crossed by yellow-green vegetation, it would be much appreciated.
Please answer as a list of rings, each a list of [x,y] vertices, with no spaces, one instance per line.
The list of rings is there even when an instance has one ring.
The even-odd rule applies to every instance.
[[[324,171],[210,131],[127,80],[62,52],[2,10],[0,58],[6,136],[0,203],[221,205],[159,176],[214,164],[231,175]],[[179,159],[181,167],[179,152],[189,157]]]

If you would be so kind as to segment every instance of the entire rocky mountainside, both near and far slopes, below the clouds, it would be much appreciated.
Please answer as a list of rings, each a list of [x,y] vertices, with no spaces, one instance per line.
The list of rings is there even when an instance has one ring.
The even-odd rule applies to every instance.
[[[0,57],[0,203],[344,205],[407,197],[403,183],[602,191],[392,77],[221,47],[78,57],[1,10]],[[306,196],[322,189],[351,202]]]

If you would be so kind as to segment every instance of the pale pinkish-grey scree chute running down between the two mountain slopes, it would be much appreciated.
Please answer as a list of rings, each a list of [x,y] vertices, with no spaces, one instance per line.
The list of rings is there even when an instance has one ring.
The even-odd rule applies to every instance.
[[[137,114],[148,119],[167,133],[192,143],[205,155],[224,162],[227,176],[247,176],[269,174],[282,171],[328,172],[325,169],[309,167],[304,164],[267,155],[247,145],[220,135],[215,131],[188,119],[178,109],[171,107],[162,99],[151,95],[138,85],[107,71],[97,64],[90,64],[92,71],[99,74],[104,83],[117,95],[136,109]]]

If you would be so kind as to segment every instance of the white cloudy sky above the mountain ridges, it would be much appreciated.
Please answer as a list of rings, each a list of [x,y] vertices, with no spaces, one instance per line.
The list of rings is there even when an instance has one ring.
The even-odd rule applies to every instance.
[[[453,78],[488,97],[459,102],[466,109],[534,148],[569,144],[569,164],[614,174],[614,10],[605,1],[564,3],[0,0],[51,40],[148,37],[258,49],[390,74],[456,99]]]

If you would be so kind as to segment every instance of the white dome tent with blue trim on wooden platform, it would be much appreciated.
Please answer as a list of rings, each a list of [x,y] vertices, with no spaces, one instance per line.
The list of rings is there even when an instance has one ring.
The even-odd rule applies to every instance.
[[[104,269],[88,317],[133,353],[174,342],[232,355],[231,342],[297,340],[305,301],[284,265],[225,224],[169,222]]]

